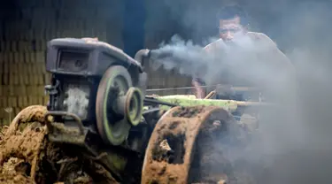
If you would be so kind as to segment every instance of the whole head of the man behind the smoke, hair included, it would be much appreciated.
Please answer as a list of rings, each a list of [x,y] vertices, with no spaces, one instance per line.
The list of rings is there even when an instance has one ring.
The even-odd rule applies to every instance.
[[[226,42],[237,35],[246,33],[248,26],[246,13],[238,6],[224,7],[218,13],[220,38]]]

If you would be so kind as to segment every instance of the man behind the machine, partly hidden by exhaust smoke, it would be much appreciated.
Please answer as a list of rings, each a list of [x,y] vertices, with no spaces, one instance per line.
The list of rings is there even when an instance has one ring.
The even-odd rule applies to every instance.
[[[241,75],[242,79],[247,78],[247,80],[255,80],[255,84],[262,84],[267,81],[264,79],[264,74],[257,74],[258,71],[262,73],[262,71],[266,71],[266,69],[263,69],[264,65],[266,65],[266,62],[269,62],[269,66],[275,69],[275,71],[279,71],[278,73],[284,73],[285,70],[293,70],[292,64],[290,63],[290,60],[285,57],[285,55],[282,53],[281,50],[279,50],[276,46],[276,44],[266,35],[261,33],[254,33],[254,32],[248,32],[248,19],[243,12],[243,10],[238,6],[228,6],[225,7],[220,11],[218,14],[218,26],[219,26],[219,35],[220,39],[208,44],[205,46],[204,50],[210,55],[214,54],[217,55],[216,58],[223,58],[223,60],[235,60],[235,58],[238,58],[238,60],[243,60],[242,62],[246,62],[244,60],[251,60],[247,63],[239,62],[240,65],[245,69],[244,71],[247,73],[241,72],[243,69],[239,69],[233,73],[233,77],[235,75]],[[251,43],[251,44],[249,44]],[[246,50],[246,52],[240,52],[239,50],[243,51]],[[244,49],[243,49],[244,48]],[[229,53],[227,50],[231,50]],[[238,51],[238,52],[236,52]],[[230,53],[233,53],[230,54]],[[243,53],[250,53],[249,55],[243,56]],[[219,55],[219,56],[218,56]],[[225,57],[227,56],[227,57]],[[251,59],[249,59],[251,58]],[[255,59],[252,59],[255,58]],[[268,61],[265,61],[268,60]],[[273,61],[272,61],[273,60]],[[234,62],[234,61],[229,61]],[[251,69],[255,69],[256,71],[249,73],[250,67],[245,68],[244,65],[253,65]],[[265,64],[264,64],[265,62]],[[217,67],[217,66],[213,66]],[[229,79],[233,79],[233,77],[229,76],[229,73],[227,73],[228,68],[225,68],[225,65],[220,65],[220,71],[217,76],[214,76],[214,78],[217,78],[220,82],[219,84],[228,84],[228,85],[234,85],[234,81],[231,81]],[[271,68],[270,67],[270,68]],[[260,68],[260,69],[258,69]],[[229,69],[230,70],[230,69]],[[226,72],[225,72],[226,71]],[[234,71],[233,71],[234,72]],[[223,75],[220,73],[224,73]],[[256,76],[254,75],[256,73]],[[269,73],[271,74],[271,73]],[[241,78],[240,77],[240,78]],[[275,78],[278,78],[280,76],[275,76]],[[252,78],[252,79],[251,79]],[[271,79],[274,78],[271,77]],[[259,83],[260,82],[260,83]],[[246,83],[246,82],[243,82]],[[205,85],[205,81],[201,77],[196,77],[194,80],[192,80],[192,84],[195,87],[195,92],[197,98],[204,98],[206,96],[205,88],[202,86]],[[209,86],[209,85],[207,85]],[[228,99],[234,99],[234,100],[243,100],[242,97],[236,97],[232,96],[231,93],[229,93],[229,88],[223,91],[228,94],[227,96],[222,96],[217,94],[217,98],[228,98]]]

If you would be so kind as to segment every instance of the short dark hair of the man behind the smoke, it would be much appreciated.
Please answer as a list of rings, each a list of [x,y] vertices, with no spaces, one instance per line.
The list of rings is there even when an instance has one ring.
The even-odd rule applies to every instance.
[[[243,26],[248,26],[248,16],[244,10],[238,5],[231,5],[223,7],[217,14],[218,26],[220,19],[233,19],[238,16]]]

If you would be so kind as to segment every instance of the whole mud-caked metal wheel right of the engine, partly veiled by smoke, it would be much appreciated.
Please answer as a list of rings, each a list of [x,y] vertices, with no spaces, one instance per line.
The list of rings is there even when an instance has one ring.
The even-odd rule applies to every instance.
[[[167,111],[151,134],[141,183],[226,183],[233,173],[226,150],[236,145],[237,125],[220,107]]]

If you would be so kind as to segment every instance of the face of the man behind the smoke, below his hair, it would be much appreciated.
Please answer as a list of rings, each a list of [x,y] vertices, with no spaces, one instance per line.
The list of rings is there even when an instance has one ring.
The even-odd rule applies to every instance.
[[[219,35],[225,42],[232,41],[235,36],[243,35],[244,28],[240,24],[240,18],[234,19],[220,19],[219,21]]]

